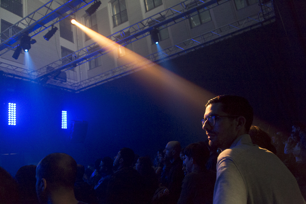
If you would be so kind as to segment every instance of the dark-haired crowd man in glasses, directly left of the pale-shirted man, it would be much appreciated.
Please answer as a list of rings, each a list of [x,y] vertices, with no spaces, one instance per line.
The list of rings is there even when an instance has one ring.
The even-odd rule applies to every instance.
[[[184,151],[184,164],[188,174],[182,182],[181,196],[177,204],[213,203],[216,173],[206,169],[209,149],[200,143],[189,144]]]

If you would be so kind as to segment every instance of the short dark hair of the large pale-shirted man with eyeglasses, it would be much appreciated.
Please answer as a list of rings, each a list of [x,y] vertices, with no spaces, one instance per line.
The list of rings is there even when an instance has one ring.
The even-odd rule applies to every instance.
[[[221,103],[221,110],[229,115],[243,116],[246,120],[245,130],[250,130],[253,123],[253,108],[247,99],[241,96],[221,95],[210,99],[205,107],[214,103]]]

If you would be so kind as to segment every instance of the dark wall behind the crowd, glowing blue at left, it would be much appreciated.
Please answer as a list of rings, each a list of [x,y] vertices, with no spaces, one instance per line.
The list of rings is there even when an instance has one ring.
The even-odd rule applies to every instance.
[[[247,98],[254,125],[270,134],[290,131],[291,122],[305,120],[305,71],[281,33],[272,23],[161,64],[202,88],[201,106],[181,100],[166,84],[157,86],[146,70],[78,94],[2,77],[0,165],[14,175],[52,152],[88,165],[124,146],[153,158],[168,141],[187,146],[206,140],[201,129],[205,102],[220,94]],[[16,126],[7,125],[9,102],[17,104]],[[62,110],[68,124],[88,121],[84,143],[69,142],[69,128],[61,129]],[[11,153],[17,154],[6,155]]]

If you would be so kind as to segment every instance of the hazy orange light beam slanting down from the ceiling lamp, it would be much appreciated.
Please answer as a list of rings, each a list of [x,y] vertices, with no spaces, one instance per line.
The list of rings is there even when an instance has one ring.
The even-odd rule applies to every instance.
[[[137,67],[142,67],[146,76],[143,76],[142,79],[138,80],[143,81],[145,86],[150,86],[149,90],[155,92],[157,96],[160,95],[160,91],[162,90],[163,92],[166,92],[165,94],[169,93],[171,95],[175,95],[175,98],[179,98],[181,102],[187,102],[189,105],[193,105],[195,108],[204,111],[205,103],[209,99],[215,97],[214,94],[202,89],[200,86],[197,86],[185,78],[182,78],[177,74],[174,74],[173,72],[151,62],[150,60],[133,52],[132,50],[117,44],[109,38],[106,38],[105,36],[82,25],[76,20],[71,20],[71,23],[83,30],[104,50],[111,52],[121,47],[121,49],[125,50],[125,53],[129,53],[124,57],[121,57],[121,59],[125,61],[125,63],[133,62],[133,64]],[[200,114],[204,115],[204,112]]]

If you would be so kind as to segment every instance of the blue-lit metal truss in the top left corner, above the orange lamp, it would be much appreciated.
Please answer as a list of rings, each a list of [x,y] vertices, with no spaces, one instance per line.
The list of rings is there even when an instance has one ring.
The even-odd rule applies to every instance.
[[[66,3],[49,1],[0,34],[3,41],[0,44],[0,51],[6,49],[0,56],[16,47],[22,35],[30,34],[33,37],[93,1],[88,0],[88,3],[85,0],[69,0]],[[66,15],[65,13],[69,11],[70,13]]]

